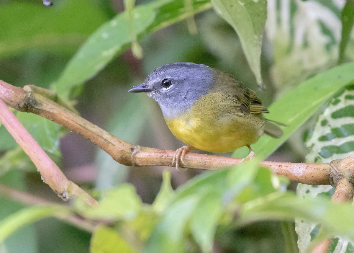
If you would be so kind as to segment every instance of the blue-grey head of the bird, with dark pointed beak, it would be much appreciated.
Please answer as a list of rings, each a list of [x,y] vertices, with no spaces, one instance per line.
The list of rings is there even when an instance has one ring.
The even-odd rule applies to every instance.
[[[213,69],[204,64],[176,62],[157,68],[128,92],[146,92],[159,103],[164,117],[174,118],[207,94],[213,80]]]

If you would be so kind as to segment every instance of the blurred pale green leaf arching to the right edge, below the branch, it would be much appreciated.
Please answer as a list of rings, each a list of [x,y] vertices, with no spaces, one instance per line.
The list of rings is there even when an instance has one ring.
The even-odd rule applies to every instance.
[[[349,203],[333,203],[326,199],[301,199],[291,192],[275,192],[241,206],[236,227],[259,220],[311,220],[320,223],[327,236],[340,235],[354,240],[354,207]]]

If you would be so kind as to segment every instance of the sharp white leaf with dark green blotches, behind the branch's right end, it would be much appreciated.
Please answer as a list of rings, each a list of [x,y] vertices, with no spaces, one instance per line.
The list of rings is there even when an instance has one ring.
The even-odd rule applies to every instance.
[[[311,149],[307,162],[328,163],[354,154],[354,83],[334,96],[319,115],[306,142]],[[330,197],[334,188],[330,185],[311,186],[299,184],[297,195],[303,198]],[[296,220],[299,252],[305,252],[309,242],[317,235],[320,224]],[[354,242],[335,237],[329,253],[354,252]]]

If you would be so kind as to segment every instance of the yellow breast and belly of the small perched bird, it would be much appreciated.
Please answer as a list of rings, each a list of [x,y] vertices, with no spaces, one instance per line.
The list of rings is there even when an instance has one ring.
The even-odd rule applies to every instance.
[[[264,131],[261,114],[245,115],[240,111],[238,101],[222,92],[204,95],[188,112],[165,120],[178,139],[200,150],[216,153],[251,145]]]

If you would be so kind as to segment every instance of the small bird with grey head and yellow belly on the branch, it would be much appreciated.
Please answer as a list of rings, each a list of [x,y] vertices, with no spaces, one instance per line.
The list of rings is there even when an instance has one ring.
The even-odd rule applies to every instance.
[[[191,150],[224,153],[246,146],[250,153],[244,159],[252,159],[251,144],[262,134],[274,138],[283,134],[274,121],[263,117],[269,111],[254,91],[204,64],[163,65],[128,92],[146,92],[155,99],[172,134],[187,144],[173,156],[177,170],[179,159],[184,164],[184,155]]]

